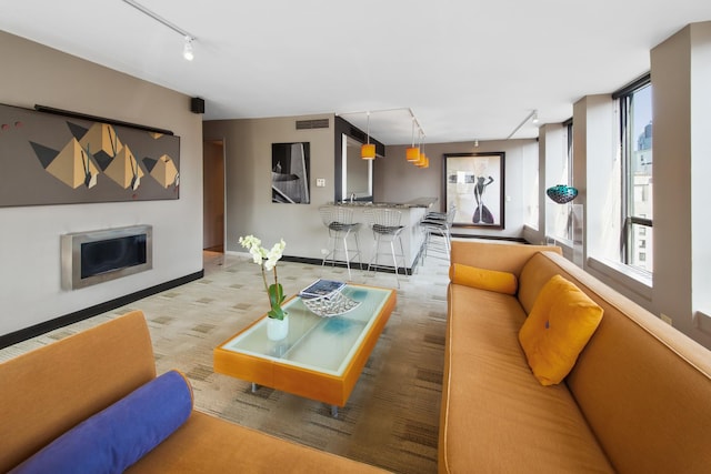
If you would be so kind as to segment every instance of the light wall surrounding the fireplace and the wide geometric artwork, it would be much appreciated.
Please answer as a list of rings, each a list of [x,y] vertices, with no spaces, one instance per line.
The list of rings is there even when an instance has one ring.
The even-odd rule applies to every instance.
[[[0,58],[2,103],[39,103],[181,138],[179,200],[0,208],[0,335],[199,272],[202,129],[189,98],[2,31]],[[61,234],[132,224],[153,225],[152,271],[61,290]]]

